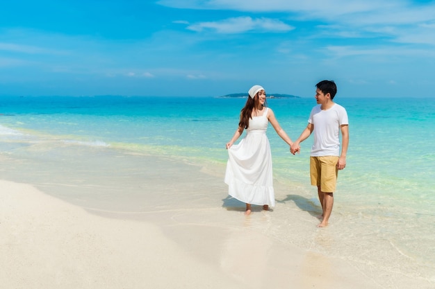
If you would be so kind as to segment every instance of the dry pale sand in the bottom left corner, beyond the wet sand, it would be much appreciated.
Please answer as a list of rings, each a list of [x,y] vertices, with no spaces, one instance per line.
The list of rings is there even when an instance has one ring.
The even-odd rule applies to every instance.
[[[94,216],[26,184],[0,187],[3,288],[237,288],[155,225]]]

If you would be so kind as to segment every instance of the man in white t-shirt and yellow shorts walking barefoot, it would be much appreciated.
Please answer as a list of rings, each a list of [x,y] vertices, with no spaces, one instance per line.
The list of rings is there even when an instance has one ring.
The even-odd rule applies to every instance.
[[[314,132],[314,143],[310,154],[311,184],[318,187],[319,200],[322,205],[322,221],[318,227],[326,227],[334,204],[338,170],[343,170],[346,166],[349,122],[345,108],[333,101],[337,93],[335,82],[322,80],[315,86],[317,87],[315,100],[318,105],[311,110],[308,125],[293,143],[290,151],[293,155],[296,152],[299,153],[299,144],[307,139],[311,132]]]

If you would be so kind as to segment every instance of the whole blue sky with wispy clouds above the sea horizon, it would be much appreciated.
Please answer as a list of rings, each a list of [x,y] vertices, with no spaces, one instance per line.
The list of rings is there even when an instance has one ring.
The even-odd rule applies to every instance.
[[[0,96],[434,95],[435,1],[2,1]]]

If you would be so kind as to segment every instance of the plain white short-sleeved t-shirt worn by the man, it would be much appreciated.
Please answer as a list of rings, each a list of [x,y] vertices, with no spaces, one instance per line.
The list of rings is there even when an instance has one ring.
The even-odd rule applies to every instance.
[[[340,125],[348,125],[347,112],[344,107],[334,103],[329,110],[321,110],[316,105],[311,110],[309,123],[314,125],[314,143],[311,157],[340,155]]]

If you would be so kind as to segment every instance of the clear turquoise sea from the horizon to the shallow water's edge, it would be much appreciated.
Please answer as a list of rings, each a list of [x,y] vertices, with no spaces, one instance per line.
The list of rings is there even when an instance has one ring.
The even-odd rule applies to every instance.
[[[225,143],[237,128],[245,100],[2,97],[0,154],[21,159],[19,169],[28,182],[32,173],[26,172],[26,161],[49,163],[57,147],[74,146],[78,153],[104,150],[186,161],[214,172],[223,183],[219,173],[227,161]],[[435,100],[336,96],[335,101],[349,115],[350,147],[347,166],[338,176],[331,225],[322,231],[322,238],[331,243],[319,252],[352,260],[366,271],[377,268],[372,270],[435,283]],[[306,127],[314,105],[314,98],[268,99],[292,139]],[[312,139],[293,156],[272,126],[268,137],[274,182],[279,184],[276,198],[282,208],[271,213],[281,222],[269,233],[313,250],[312,235],[293,234],[295,220],[286,220],[292,204],[304,212],[319,208],[315,188],[309,184]],[[2,167],[0,178],[8,179],[11,170]],[[222,191],[222,199],[226,193]]]

